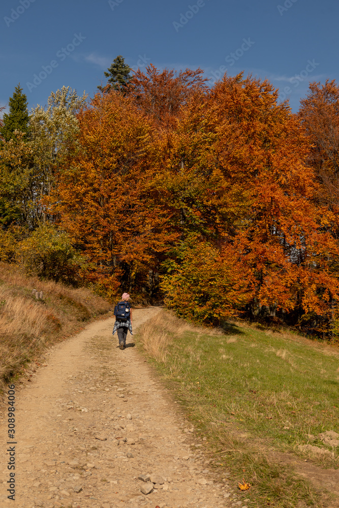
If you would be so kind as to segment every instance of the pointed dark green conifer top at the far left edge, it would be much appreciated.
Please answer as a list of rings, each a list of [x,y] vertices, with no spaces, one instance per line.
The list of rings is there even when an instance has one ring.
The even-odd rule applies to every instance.
[[[28,110],[27,97],[22,93],[20,83],[15,87],[13,97],[9,99],[9,113],[4,113],[3,126],[0,128],[0,136],[4,141],[13,139],[14,131],[20,131],[25,134],[28,132]]]

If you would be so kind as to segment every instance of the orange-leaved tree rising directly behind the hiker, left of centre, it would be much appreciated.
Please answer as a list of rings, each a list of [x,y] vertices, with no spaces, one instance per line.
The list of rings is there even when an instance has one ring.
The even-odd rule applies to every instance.
[[[53,211],[106,294],[146,285],[171,242],[167,216],[149,199],[152,125],[122,94],[97,94],[79,115],[79,149],[58,173]]]

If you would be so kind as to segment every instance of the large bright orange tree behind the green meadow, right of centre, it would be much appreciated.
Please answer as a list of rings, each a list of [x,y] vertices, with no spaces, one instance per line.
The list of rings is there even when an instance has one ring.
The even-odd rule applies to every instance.
[[[181,242],[185,230],[194,232],[200,241],[212,242],[225,268],[234,267],[234,259],[239,274],[243,268],[246,284],[238,280],[237,292],[230,291],[234,306],[245,292],[252,315],[282,309],[295,312],[297,321],[304,312],[328,311],[329,295],[337,293],[330,273],[337,248],[326,230],[330,217],[314,202],[317,185],[305,165],[307,140],[277,99],[267,81],[239,75],[226,76],[207,97],[190,101],[175,143],[166,147],[167,173],[172,173],[167,181],[177,220],[184,211]],[[171,273],[173,284],[179,273],[184,277],[180,263]],[[214,282],[220,287],[222,273]],[[168,287],[166,276],[171,294]]]

